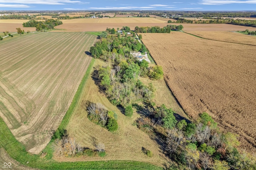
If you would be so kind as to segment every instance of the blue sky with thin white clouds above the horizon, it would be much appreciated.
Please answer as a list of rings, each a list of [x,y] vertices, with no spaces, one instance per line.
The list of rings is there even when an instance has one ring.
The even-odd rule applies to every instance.
[[[0,10],[256,10],[256,0],[0,0]]]

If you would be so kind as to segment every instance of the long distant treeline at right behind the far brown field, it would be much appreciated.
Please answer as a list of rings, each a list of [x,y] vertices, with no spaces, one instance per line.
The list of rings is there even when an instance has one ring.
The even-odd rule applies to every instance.
[[[224,19],[224,20],[187,20],[185,18],[173,18],[176,20],[175,22],[172,20],[168,20],[168,23],[188,23],[188,24],[234,24],[239,26],[250,26],[256,27],[256,20],[239,20],[239,19]]]

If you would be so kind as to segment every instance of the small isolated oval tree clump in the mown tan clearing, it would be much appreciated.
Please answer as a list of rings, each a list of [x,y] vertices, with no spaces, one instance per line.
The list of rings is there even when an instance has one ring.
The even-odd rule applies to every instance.
[[[117,115],[114,111],[107,111],[101,103],[89,103],[87,106],[88,119],[93,123],[114,132],[118,128]]]

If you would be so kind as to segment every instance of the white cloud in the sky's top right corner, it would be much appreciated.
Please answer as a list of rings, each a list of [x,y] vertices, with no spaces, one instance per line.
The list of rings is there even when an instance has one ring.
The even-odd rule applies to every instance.
[[[202,5],[224,5],[224,4],[256,4],[256,0],[202,0],[198,4]]]

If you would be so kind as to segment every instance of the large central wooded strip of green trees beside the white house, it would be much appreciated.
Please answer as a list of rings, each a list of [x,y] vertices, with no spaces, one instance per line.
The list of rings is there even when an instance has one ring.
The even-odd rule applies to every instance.
[[[146,86],[140,76],[160,79],[163,77],[162,67],[148,67],[146,60],[138,61],[133,57],[132,51],[139,51],[146,47],[132,37],[118,38],[108,34],[101,38],[90,48],[90,53],[95,58],[111,61],[111,67],[98,69],[100,86],[104,89],[108,99],[114,105],[128,105],[142,101],[152,104],[152,85]]]

